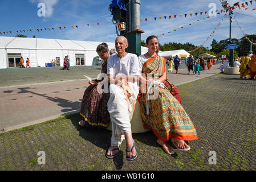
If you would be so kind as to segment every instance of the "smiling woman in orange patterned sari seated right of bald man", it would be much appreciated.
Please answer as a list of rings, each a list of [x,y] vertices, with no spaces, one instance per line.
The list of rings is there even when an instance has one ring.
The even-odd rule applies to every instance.
[[[174,154],[173,148],[167,143],[169,139],[178,150],[188,151],[190,147],[184,141],[198,139],[196,128],[180,102],[163,84],[167,77],[166,67],[164,59],[156,54],[159,48],[157,37],[149,36],[146,42],[149,51],[139,56],[139,68],[143,75],[140,77],[138,101],[143,127],[153,130],[157,142],[167,154]],[[150,76],[157,76],[158,79],[153,80]],[[152,88],[149,85],[153,85]],[[151,96],[158,93],[157,97],[148,100],[148,91]]]

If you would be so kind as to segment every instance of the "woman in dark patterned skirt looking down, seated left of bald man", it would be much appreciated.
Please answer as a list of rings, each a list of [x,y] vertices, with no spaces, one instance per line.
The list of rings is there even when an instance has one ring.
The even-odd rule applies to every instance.
[[[101,73],[107,75],[107,60],[110,57],[108,53],[108,45],[106,43],[99,44],[96,52],[100,58],[104,60],[104,63],[101,65]],[[88,80],[90,86],[88,86],[84,92],[80,110],[80,115],[82,115],[83,119],[79,122],[80,126],[91,126],[96,127],[97,129],[105,129],[108,126],[110,121],[107,106],[109,94],[104,92],[101,93],[97,90],[97,85],[99,85],[99,83],[103,85],[103,81],[105,80]],[[104,89],[104,86],[102,89]]]

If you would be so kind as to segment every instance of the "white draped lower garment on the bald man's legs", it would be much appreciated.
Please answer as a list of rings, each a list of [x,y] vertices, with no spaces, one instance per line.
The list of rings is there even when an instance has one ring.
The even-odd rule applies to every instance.
[[[124,133],[132,134],[127,101],[123,90],[117,85],[109,86],[108,111],[112,122],[111,146],[120,146],[125,139]],[[129,98],[132,110],[132,97]]]

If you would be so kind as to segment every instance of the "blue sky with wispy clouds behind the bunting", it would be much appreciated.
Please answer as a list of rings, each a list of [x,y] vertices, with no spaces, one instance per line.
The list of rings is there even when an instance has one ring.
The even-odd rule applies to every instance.
[[[46,5],[46,17],[38,16],[38,3]],[[233,5],[235,0],[227,0],[230,5]],[[241,3],[248,2],[248,8],[245,10],[235,9],[235,17],[246,34],[256,34],[256,1],[253,0],[251,5],[250,0],[241,0]],[[165,35],[159,36],[161,44],[169,42],[192,43],[200,46],[208,36],[217,27],[217,24],[224,17],[224,13],[216,17],[210,17],[205,14],[205,11],[210,11],[210,3],[217,5],[217,10],[221,10],[222,6],[219,0],[141,0],[141,30],[145,34],[141,34],[141,39],[145,40],[149,35]],[[112,24],[112,15],[108,10],[111,0],[8,0],[1,1],[0,15],[1,24],[0,32],[16,31],[16,30],[36,30],[42,28],[43,32],[22,32],[22,34],[36,38],[49,38],[49,39],[70,39],[70,40],[87,40],[98,42],[114,42],[116,38],[115,26]],[[200,15],[200,12],[204,12]],[[193,13],[192,16],[189,14]],[[198,13],[197,16],[195,13]],[[185,14],[187,14],[185,18]],[[171,19],[169,19],[171,15]],[[174,15],[177,17],[174,19]],[[181,18],[180,18],[180,15]],[[159,16],[162,19],[159,19]],[[167,16],[164,19],[164,16]],[[157,17],[157,20],[154,18]],[[147,18],[147,22],[145,22]],[[149,20],[151,18],[151,20]],[[205,18],[205,20],[201,20]],[[197,22],[197,20],[199,20]],[[186,26],[189,23],[196,22],[191,26]],[[95,25],[92,26],[92,23]],[[100,23],[100,25],[97,25]],[[105,24],[103,24],[105,23]],[[84,27],[82,27],[84,24]],[[90,24],[90,26],[87,26]],[[54,29],[54,31],[44,31],[44,28],[64,27],[66,30]],[[71,26],[78,26],[72,28]],[[184,27],[176,32],[167,32],[174,30],[178,27]],[[235,21],[232,23],[232,37],[242,38],[243,34],[239,30]],[[62,28],[63,29],[63,28]],[[167,34],[166,34],[167,33]],[[16,34],[8,34],[5,36],[15,36]],[[3,36],[3,35],[2,35]],[[204,47],[210,47],[212,40],[220,41],[229,38],[229,18],[225,18],[221,26],[217,29],[216,33],[210,37]]]

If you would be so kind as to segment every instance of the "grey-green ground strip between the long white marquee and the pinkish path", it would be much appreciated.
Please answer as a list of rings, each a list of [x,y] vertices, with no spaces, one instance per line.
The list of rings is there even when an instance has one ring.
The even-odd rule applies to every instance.
[[[71,67],[69,71],[63,71],[62,68],[63,67],[0,69],[0,86],[79,80],[85,78],[83,75],[95,78],[100,73],[100,66]]]

